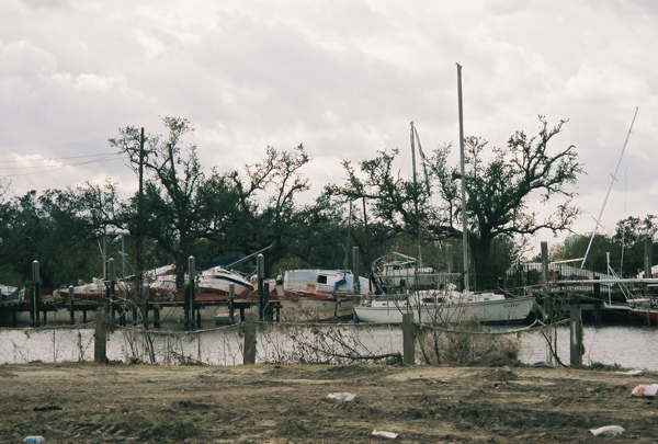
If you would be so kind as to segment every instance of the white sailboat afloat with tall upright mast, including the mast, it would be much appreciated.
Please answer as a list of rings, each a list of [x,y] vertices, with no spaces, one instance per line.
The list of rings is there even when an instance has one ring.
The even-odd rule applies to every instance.
[[[457,64],[460,99],[460,148],[462,177],[464,177],[464,129],[462,118],[462,67]],[[411,124],[411,149],[415,158],[415,137],[418,133]],[[420,140],[419,140],[419,151]],[[416,172],[416,166],[413,166]],[[413,174],[416,180],[416,173]],[[466,215],[466,191],[462,180],[462,210]],[[354,307],[354,314],[363,322],[394,323],[402,321],[402,314],[412,312],[418,322],[458,323],[469,319],[480,323],[519,323],[531,314],[535,300],[533,296],[507,298],[497,293],[473,293],[468,282],[468,244],[466,218],[463,218],[464,243],[464,292],[457,292],[452,283],[438,283],[435,288],[416,289],[410,293],[390,294],[385,287],[385,277],[375,275],[382,294],[374,299],[365,299]]]

